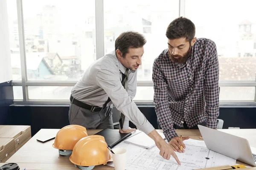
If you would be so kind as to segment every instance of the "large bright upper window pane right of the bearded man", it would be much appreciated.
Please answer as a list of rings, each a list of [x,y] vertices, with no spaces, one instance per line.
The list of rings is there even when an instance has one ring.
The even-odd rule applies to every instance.
[[[253,25],[256,23],[254,12],[256,1],[186,0],[185,2],[185,16],[195,24],[196,37],[206,37],[216,43],[220,81],[256,81],[256,57],[253,56],[256,39],[249,39],[250,35],[256,35],[256,27]],[[228,9],[229,17],[224,17],[230,4],[233,5]]]

